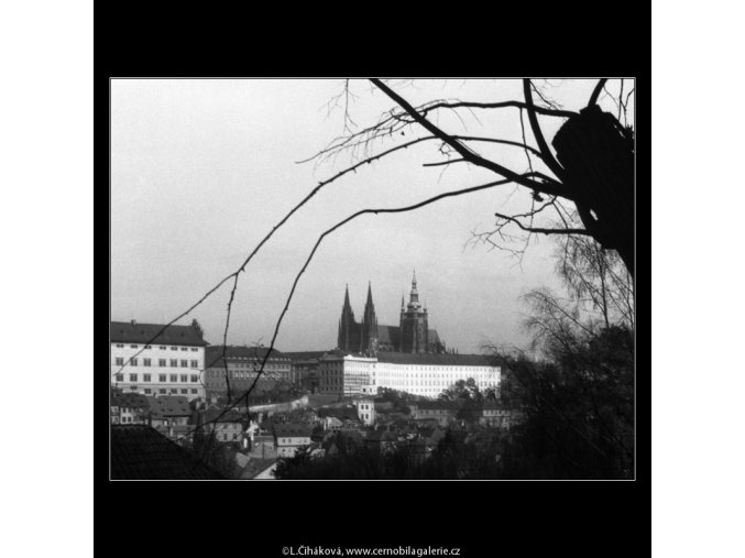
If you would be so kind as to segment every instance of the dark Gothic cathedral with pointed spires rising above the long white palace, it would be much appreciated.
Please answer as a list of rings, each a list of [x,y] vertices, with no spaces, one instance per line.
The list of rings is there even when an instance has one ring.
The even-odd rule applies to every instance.
[[[362,321],[354,320],[354,311],[349,303],[349,286],[344,293],[344,304],[339,319],[338,348],[344,352],[375,354],[377,351],[406,353],[445,353],[445,343],[437,330],[429,329],[429,315],[426,306],[419,303],[416,273],[412,280],[408,305],[401,298],[398,326],[381,326],[375,316],[372,299],[372,286],[368,284],[368,300],[364,305]]]

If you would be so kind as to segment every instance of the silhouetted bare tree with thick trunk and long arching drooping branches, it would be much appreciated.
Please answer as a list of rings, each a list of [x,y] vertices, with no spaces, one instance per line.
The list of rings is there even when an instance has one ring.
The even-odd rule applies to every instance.
[[[354,164],[337,172],[333,176],[319,182],[316,187],[314,187],[302,200],[299,200],[266,233],[266,236],[253,248],[243,263],[235,271],[223,277],[199,300],[197,300],[184,313],[165,325],[161,331],[154,336],[154,338],[160,336],[168,326],[189,315],[208,297],[215,294],[222,285],[232,283],[223,331],[223,347],[227,347],[227,333],[230,326],[232,303],[238,288],[240,274],[245,271],[249,263],[253,260],[262,247],[264,247],[264,244],[272,238],[272,236],[280,228],[282,228],[297,210],[306,205],[308,200],[316,196],[327,185],[340,179],[343,176],[357,173],[358,169],[361,169],[373,162],[383,160],[395,152],[406,150],[409,146],[428,141],[439,142],[439,152],[442,155],[442,161],[425,163],[425,166],[450,165],[465,162],[493,172],[500,177],[500,179],[440,194],[405,207],[362,209],[350,215],[346,219],[340,220],[338,223],[324,231],[319,236],[310,254],[295,277],[285,306],[277,318],[274,333],[270,342],[270,350],[262,359],[261,364],[258,366],[259,370],[256,371],[253,383],[248,390],[238,394],[232,393],[233,390],[230,384],[228,384],[230,403],[226,406],[224,412],[227,412],[232,406],[248,404],[249,395],[253,392],[253,389],[255,387],[260,376],[265,373],[269,354],[274,347],[276,336],[291,304],[297,284],[321,241],[328,234],[332,233],[337,229],[343,227],[358,217],[365,215],[413,211],[441,199],[468,195],[512,182],[528,188],[532,192],[534,205],[532,206],[530,210],[525,214],[496,214],[497,218],[501,219],[501,221],[497,221],[497,229],[495,230],[496,233],[501,234],[502,228],[512,223],[516,225],[519,229],[525,230],[528,233],[592,237],[604,249],[617,250],[626,269],[633,273],[633,131],[631,128],[622,125],[616,117],[607,112],[602,112],[596,106],[599,96],[601,96],[603,91],[606,91],[606,79],[601,79],[593,90],[588,106],[582,108],[579,112],[576,112],[565,110],[552,102],[530,79],[525,79],[523,81],[523,100],[506,100],[484,103],[469,102],[463,100],[437,99],[428,101],[418,107],[413,107],[403,97],[395,92],[393,87],[396,87],[396,85],[381,79],[371,79],[371,83],[374,87],[383,91],[388,98],[396,102],[397,108],[394,108],[383,114],[377,123],[361,131],[351,132],[352,128],[355,127],[355,123],[349,116],[349,103],[350,98],[354,98],[354,96],[350,94],[349,80],[347,80],[344,85],[344,91],[336,100],[332,100],[332,102],[336,105],[343,105],[346,135],[332,141],[326,149],[321,150],[310,160],[320,162],[329,157],[336,157],[340,153],[348,151],[351,151],[358,156],[362,154],[362,156],[359,157],[359,161],[357,161]],[[625,97],[622,95],[622,89],[618,94],[616,106],[618,107],[617,114],[618,117],[623,117],[624,121],[626,121],[626,111],[632,91],[633,89],[627,90]],[[539,98],[538,103],[534,102],[534,94]],[[428,118],[430,113],[441,110],[449,110],[458,113],[461,110],[496,110],[510,107],[517,108],[519,110],[521,122],[523,122],[523,113],[525,112],[527,114],[527,120],[529,122],[534,140],[537,144],[536,146],[528,145],[525,133],[523,133],[522,142],[502,138],[452,134],[446,132],[442,128],[432,123]],[[556,147],[556,155],[554,152],[551,152],[551,150],[548,147],[548,144],[546,143],[538,121],[538,114],[541,117],[567,119],[562,128],[552,140],[552,144]],[[399,134],[405,135],[405,130],[416,127],[423,128],[426,133],[419,138],[415,138],[413,140],[372,152],[373,149],[377,149],[377,140],[397,140]],[[529,171],[515,172],[497,161],[487,158],[475,150],[474,145],[479,144],[505,145],[523,150],[528,161]],[[539,162],[543,165],[539,167],[540,171],[534,169],[534,162]],[[544,196],[548,197],[548,200],[546,200]],[[540,205],[536,206],[535,204]],[[569,204],[570,207],[565,207],[562,204]],[[571,204],[574,205],[573,208],[571,208]],[[551,209],[556,211],[562,226],[552,228],[534,227],[533,219],[543,211]],[[576,216],[573,222],[572,216]],[[528,219],[528,221],[526,222],[525,219]],[[129,365],[131,359],[138,354],[139,352],[131,357],[130,360],[125,362],[118,372],[121,372],[121,370]],[[226,354],[223,351],[223,363],[226,363],[224,357]],[[224,372],[227,375],[227,364],[224,364]],[[193,433],[189,433],[186,435],[186,437],[191,435]]]

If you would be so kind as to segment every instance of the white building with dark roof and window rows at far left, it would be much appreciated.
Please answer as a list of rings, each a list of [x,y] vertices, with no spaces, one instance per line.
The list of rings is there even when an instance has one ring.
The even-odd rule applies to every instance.
[[[190,326],[112,321],[111,385],[123,393],[205,397],[205,341],[196,320]],[[147,344],[150,343],[150,344]]]

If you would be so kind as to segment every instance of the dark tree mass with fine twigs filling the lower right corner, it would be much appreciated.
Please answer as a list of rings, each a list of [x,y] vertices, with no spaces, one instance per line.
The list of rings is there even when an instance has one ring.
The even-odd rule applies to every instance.
[[[505,452],[505,474],[631,478],[634,468],[634,299],[618,258],[570,236],[557,250],[567,287],[523,297],[538,359],[492,348],[501,394],[526,419]]]

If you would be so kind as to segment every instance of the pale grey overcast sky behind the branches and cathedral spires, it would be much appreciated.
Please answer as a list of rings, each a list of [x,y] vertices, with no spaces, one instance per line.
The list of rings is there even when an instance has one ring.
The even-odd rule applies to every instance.
[[[546,90],[578,110],[594,83],[552,80]],[[393,84],[412,103],[456,97],[522,99],[518,80]],[[349,164],[349,155],[318,167],[296,163],[343,133],[343,99],[337,108],[329,106],[342,88],[338,79],[111,81],[112,319],[172,320],[240,266],[319,180]],[[366,81],[353,81],[351,91],[357,97],[350,99],[349,110],[360,128],[393,107]],[[463,111],[461,117],[462,122],[445,113],[437,118],[451,133],[468,130],[521,140],[517,109]],[[561,122],[541,119],[549,139]],[[424,131],[413,128],[406,136],[375,146],[380,151],[420,135]],[[478,149],[510,168],[527,169],[519,149]],[[495,179],[462,163],[446,172],[442,166],[421,166],[441,160],[438,144],[425,142],[322,189],[241,274],[228,342],[269,344],[295,275],[318,236],[333,223],[365,207],[409,205]],[[414,269],[420,299],[429,308],[429,326],[449,348],[465,353],[479,352],[483,342],[525,346],[519,296],[539,286],[559,288],[555,242],[536,238],[522,266],[506,252],[467,243],[471,231],[494,225],[494,211],[528,207],[528,196],[507,185],[415,212],[358,218],[320,245],[300,280],[276,347],[333,348],[346,284],[358,320],[370,281],[379,324],[397,326],[401,296],[408,297]],[[209,342],[221,342],[229,296],[226,285],[180,324],[194,317]]]

